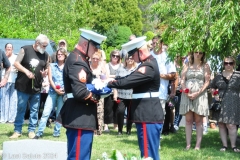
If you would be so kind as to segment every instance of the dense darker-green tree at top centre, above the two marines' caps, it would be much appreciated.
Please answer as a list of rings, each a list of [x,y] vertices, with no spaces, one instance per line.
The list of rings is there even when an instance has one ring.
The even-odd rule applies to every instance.
[[[93,28],[100,33],[107,32],[112,26],[128,26],[133,34],[142,35],[142,16],[137,0],[92,0],[97,6],[94,12]]]

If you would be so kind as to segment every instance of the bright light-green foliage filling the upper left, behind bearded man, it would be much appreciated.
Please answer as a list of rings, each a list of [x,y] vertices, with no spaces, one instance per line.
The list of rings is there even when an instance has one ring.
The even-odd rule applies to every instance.
[[[0,36],[6,38],[35,39],[43,33],[55,41],[64,38],[73,48],[79,28],[93,23],[89,0],[1,0],[0,7]]]

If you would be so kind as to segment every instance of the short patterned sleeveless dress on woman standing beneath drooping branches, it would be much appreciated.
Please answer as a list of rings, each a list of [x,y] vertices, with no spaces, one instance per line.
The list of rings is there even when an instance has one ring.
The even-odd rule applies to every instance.
[[[199,70],[193,70],[188,67],[185,86],[189,89],[189,93],[199,91],[204,85],[204,79],[204,66]],[[194,100],[189,99],[185,93],[182,94],[179,113],[185,115],[189,111],[202,116],[209,114],[207,90],[203,91]]]

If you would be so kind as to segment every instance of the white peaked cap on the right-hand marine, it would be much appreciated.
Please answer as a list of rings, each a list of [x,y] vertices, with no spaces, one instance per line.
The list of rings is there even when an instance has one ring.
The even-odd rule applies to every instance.
[[[125,43],[122,45],[122,49],[126,50],[127,52],[132,51],[134,49],[139,49],[141,48],[144,44],[146,44],[147,42],[145,41],[147,37],[146,36],[142,36],[142,37],[138,37],[138,38],[134,38],[133,40]]]

